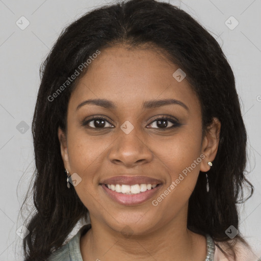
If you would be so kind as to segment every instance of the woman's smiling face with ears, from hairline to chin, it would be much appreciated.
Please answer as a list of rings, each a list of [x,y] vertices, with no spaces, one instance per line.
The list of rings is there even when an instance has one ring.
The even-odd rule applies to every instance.
[[[64,167],[76,173],[71,189],[92,223],[136,234],[186,224],[199,171],[215,158],[220,123],[202,137],[199,100],[186,77],[173,76],[177,69],[152,49],[115,46],[101,51],[74,89],[67,134],[59,128],[58,136]]]

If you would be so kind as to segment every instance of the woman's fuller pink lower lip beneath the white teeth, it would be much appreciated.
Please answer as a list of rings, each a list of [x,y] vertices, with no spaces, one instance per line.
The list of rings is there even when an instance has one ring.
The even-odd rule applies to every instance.
[[[156,186],[154,189],[146,190],[145,192],[141,192],[139,194],[122,194],[116,191],[112,191],[102,184],[101,187],[105,190],[106,194],[112,198],[114,201],[122,204],[122,205],[137,205],[141,204],[148,199],[152,198],[157,191],[161,188],[162,184]]]

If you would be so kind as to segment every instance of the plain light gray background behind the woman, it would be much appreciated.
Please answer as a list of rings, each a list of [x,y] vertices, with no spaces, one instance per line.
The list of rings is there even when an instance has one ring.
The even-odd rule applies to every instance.
[[[106,3],[112,2],[0,0],[0,261],[22,260],[22,240],[16,230],[23,224],[19,207],[34,170],[31,122],[40,83],[40,63],[67,24]],[[249,138],[248,178],[255,187],[254,195],[240,208],[240,228],[261,256],[261,1],[170,3],[189,12],[215,36],[236,76]],[[16,24],[18,20],[20,27],[25,25],[25,20],[19,19],[21,16],[30,22],[24,30]],[[234,29],[237,21],[230,16],[239,22]],[[69,238],[80,226],[75,227]]]

